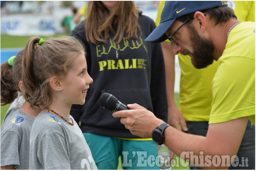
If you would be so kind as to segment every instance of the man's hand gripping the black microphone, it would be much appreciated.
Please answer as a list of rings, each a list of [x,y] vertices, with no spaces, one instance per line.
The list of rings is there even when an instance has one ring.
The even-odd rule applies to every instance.
[[[127,105],[130,110],[117,111],[113,113],[114,117],[122,117],[120,122],[131,131],[133,135],[143,138],[151,137],[152,131],[164,123],[156,118],[154,113],[148,111],[138,104]]]

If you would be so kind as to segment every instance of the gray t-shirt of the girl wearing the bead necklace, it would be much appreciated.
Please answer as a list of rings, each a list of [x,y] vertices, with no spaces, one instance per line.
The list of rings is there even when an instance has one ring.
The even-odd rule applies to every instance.
[[[70,117],[64,118],[72,123]],[[42,111],[35,118],[30,136],[29,169],[97,169],[83,133],[73,121],[72,126],[48,111]]]

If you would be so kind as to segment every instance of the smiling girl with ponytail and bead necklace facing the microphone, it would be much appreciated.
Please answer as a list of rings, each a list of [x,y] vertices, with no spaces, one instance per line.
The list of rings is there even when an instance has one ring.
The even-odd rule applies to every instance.
[[[84,47],[72,37],[29,39],[23,55],[24,98],[43,111],[30,134],[29,169],[97,169],[85,138],[69,115],[85,103],[92,83]]]

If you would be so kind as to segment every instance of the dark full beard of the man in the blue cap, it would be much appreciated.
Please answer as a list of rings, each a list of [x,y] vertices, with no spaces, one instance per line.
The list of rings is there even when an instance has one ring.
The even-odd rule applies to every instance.
[[[206,68],[214,60],[214,45],[212,41],[201,38],[193,26],[189,28],[189,32],[194,52],[182,50],[180,53],[183,55],[191,54],[191,63],[195,68]]]

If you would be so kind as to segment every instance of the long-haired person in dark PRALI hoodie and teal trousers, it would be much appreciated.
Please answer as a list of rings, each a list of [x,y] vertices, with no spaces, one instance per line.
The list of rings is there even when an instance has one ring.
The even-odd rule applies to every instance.
[[[81,122],[98,169],[117,169],[120,155],[123,169],[159,169],[143,166],[133,156],[134,151],[142,151],[156,157],[152,139],[132,135],[111,111],[99,105],[102,93],[107,92],[122,103],[136,101],[167,120],[161,45],[144,41],[155,27],[133,1],[90,1],[87,19],[71,32],[86,47],[88,73],[94,79],[85,105],[73,105],[71,115]]]

